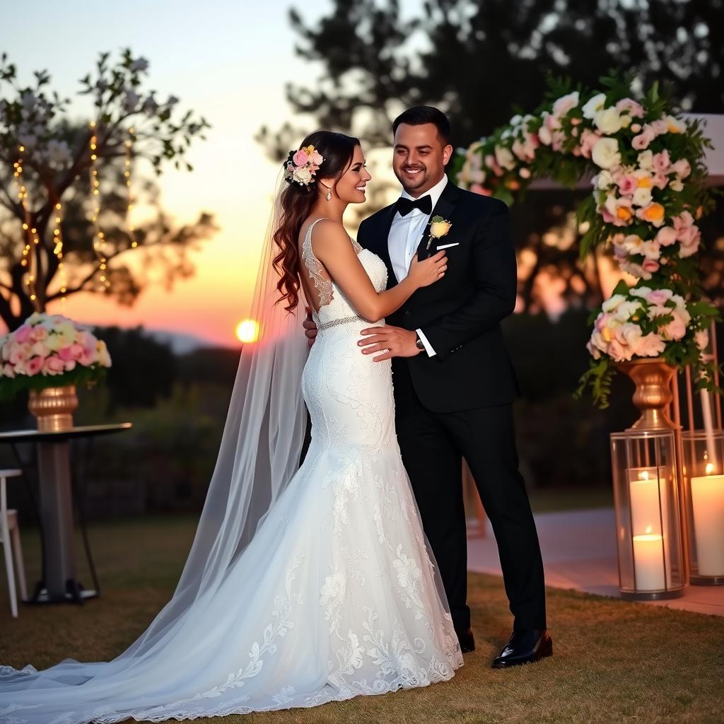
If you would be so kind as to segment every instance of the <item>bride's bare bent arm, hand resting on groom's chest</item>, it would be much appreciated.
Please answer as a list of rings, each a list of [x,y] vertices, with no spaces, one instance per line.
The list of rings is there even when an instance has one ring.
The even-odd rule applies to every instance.
[[[352,306],[369,321],[379,321],[399,309],[415,290],[436,282],[447,269],[444,251],[424,261],[413,257],[410,273],[402,282],[392,289],[377,292],[342,224],[329,219],[316,224],[312,232],[312,249]]]

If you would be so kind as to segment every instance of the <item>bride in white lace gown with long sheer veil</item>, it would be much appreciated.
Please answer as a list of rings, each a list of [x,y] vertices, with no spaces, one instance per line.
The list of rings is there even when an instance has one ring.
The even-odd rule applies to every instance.
[[[355,342],[445,273],[385,291],[342,226],[370,180],[355,138],[308,135],[285,163],[198,531],[169,603],[110,662],[0,667],[0,720],[161,721],[313,707],[427,686],[463,665],[394,427],[390,361]],[[319,336],[310,352],[303,304]],[[311,444],[301,466],[306,410]]]

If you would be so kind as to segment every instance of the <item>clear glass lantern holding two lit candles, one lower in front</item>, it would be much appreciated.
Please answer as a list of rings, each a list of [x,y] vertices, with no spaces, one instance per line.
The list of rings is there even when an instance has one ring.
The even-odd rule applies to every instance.
[[[626,599],[676,598],[687,583],[677,433],[611,434],[619,589]]]

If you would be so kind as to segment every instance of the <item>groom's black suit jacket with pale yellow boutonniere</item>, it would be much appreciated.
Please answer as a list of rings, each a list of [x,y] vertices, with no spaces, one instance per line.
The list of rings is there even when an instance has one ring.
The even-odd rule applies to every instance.
[[[395,211],[392,204],[369,216],[357,236],[358,243],[387,264],[388,288],[397,284],[387,247]],[[387,324],[421,329],[437,354],[395,358],[395,378],[402,379],[403,366],[408,366],[418,399],[436,413],[512,403],[518,382],[500,329],[500,321],[513,312],[517,291],[508,207],[448,181],[430,218],[436,215],[452,226],[437,242],[432,240],[429,253],[437,245],[458,243],[446,250],[447,273],[414,292],[387,317]],[[418,246],[421,258],[428,235],[429,227]]]

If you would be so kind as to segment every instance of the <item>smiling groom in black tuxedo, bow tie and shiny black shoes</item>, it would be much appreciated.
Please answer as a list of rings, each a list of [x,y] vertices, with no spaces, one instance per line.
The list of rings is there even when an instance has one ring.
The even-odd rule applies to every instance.
[[[387,326],[364,329],[361,353],[392,358],[397,440],[460,647],[475,648],[466,604],[464,457],[492,524],[515,617],[493,668],[536,661],[552,654],[552,641],[538,536],[515,450],[518,383],[500,329],[517,286],[508,207],[447,180],[452,146],[442,111],[408,109],[392,132],[403,193],[361,223],[358,243],[387,264],[388,287],[404,279],[414,254],[445,249],[447,273],[417,290]],[[448,223],[432,226],[434,216]],[[316,334],[312,322],[305,327],[308,337]]]

